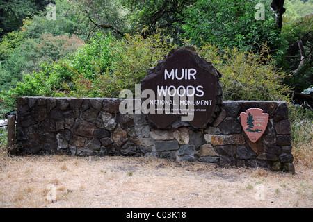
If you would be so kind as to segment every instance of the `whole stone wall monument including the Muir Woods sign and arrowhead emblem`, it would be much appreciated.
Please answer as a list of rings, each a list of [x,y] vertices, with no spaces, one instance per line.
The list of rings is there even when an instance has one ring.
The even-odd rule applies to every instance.
[[[294,173],[287,103],[222,101],[220,78],[193,47],[179,47],[121,98],[20,97],[17,146]]]

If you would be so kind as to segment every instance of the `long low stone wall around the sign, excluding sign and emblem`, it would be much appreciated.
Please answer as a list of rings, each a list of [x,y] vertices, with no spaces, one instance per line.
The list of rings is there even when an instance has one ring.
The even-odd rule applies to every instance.
[[[262,167],[294,172],[284,101],[223,101],[214,121],[196,129],[175,121],[165,129],[145,114],[120,114],[122,99],[20,97],[17,145],[29,154],[125,155]],[[240,113],[269,114],[262,137],[250,142]]]

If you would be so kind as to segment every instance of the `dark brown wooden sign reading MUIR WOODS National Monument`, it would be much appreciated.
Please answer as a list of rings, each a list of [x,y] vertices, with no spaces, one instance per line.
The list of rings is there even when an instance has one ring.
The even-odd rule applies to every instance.
[[[195,49],[172,50],[141,82],[143,90],[154,92],[154,96],[142,99],[152,108],[147,113],[150,121],[164,128],[182,117],[182,121],[201,128],[214,113],[217,83],[216,69]]]

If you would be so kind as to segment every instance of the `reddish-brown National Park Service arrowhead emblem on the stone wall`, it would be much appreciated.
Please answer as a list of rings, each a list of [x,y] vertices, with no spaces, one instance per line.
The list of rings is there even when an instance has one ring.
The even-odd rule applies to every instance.
[[[250,108],[240,114],[241,126],[250,141],[257,142],[263,135],[268,123],[268,114],[262,109]]]

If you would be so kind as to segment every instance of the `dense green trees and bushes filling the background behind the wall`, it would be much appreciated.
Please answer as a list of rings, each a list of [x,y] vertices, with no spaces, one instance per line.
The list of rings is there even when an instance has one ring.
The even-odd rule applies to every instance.
[[[313,0],[0,0],[1,112],[18,96],[118,96],[175,46],[214,63],[223,99],[312,110],[312,12]]]

